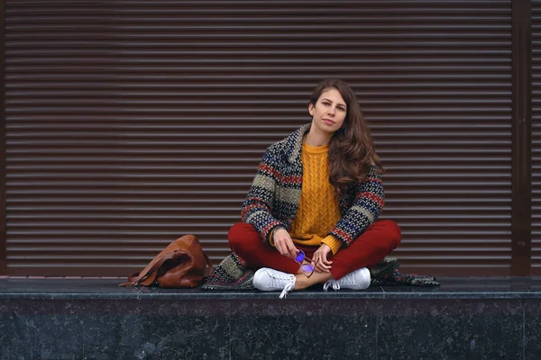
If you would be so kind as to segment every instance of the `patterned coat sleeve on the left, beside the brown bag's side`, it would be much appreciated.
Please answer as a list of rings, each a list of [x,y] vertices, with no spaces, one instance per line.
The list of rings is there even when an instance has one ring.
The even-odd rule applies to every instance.
[[[257,168],[241,212],[243,222],[251,224],[265,243],[269,243],[272,229],[284,226],[272,215],[277,182],[280,179],[280,158],[280,143],[271,145]]]

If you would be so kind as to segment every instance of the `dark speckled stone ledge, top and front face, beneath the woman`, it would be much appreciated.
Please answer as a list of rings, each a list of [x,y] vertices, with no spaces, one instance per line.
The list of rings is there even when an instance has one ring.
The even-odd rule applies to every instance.
[[[117,288],[116,280],[5,280],[0,358],[541,358],[538,279],[440,280],[439,289],[314,288],[286,300]]]

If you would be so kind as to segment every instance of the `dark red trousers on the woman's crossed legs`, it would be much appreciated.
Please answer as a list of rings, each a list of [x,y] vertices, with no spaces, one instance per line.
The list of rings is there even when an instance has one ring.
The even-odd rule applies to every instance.
[[[278,250],[261,241],[258,232],[252,225],[243,222],[234,224],[228,234],[229,246],[235,254],[242,257],[250,267],[257,270],[271,267],[288,274],[297,274],[299,265],[295,260],[281,255]],[[376,265],[399,246],[400,229],[391,220],[376,221],[356,238],[349,247],[343,247],[336,253],[331,274],[335,280],[340,279],[362,267]],[[307,257],[312,257],[319,247],[303,247]]]

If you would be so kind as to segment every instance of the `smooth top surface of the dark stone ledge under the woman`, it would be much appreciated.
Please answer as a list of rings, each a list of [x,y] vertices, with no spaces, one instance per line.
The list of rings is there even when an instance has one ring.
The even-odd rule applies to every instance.
[[[541,277],[440,277],[441,287],[372,286],[324,293],[321,286],[288,299],[539,299]],[[279,292],[214,292],[196,289],[118,287],[122,279],[0,279],[0,300],[250,300],[278,299]]]

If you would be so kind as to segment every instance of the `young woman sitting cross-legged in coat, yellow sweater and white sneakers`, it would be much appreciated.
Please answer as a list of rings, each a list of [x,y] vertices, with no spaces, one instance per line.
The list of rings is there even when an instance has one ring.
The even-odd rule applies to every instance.
[[[368,266],[400,243],[400,229],[380,220],[381,161],[349,85],[326,79],[307,108],[312,121],[267,149],[229,244],[259,269],[262,291],[314,284],[362,290]]]

